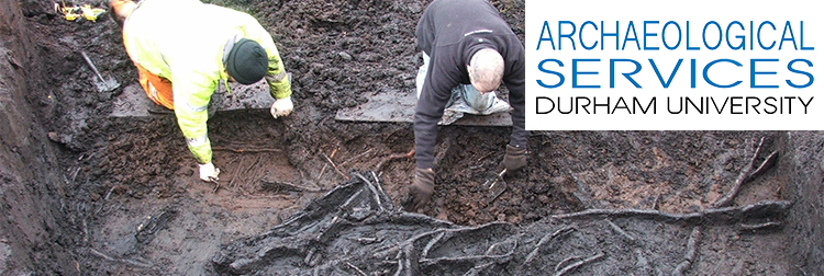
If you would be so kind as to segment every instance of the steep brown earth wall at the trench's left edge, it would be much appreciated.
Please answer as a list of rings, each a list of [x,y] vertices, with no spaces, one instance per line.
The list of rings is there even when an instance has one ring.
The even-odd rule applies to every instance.
[[[75,275],[65,173],[25,94],[40,55],[18,1],[0,1],[0,275]]]

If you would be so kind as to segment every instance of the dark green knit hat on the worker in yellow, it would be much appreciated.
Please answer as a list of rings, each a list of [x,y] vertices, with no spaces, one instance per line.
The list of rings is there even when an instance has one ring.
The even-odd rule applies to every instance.
[[[242,84],[258,82],[268,69],[269,58],[266,50],[255,41],[241,38],[229,51],[226,71]]]

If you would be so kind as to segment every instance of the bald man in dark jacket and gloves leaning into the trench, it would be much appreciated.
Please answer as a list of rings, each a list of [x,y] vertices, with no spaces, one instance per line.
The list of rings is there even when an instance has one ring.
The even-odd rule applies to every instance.
[[[428,65],[415,107],[416,168],[408,210],[423,207],[432,197],[437,123],[460,84],[471,84],[481,96],[501,82],[506,85],[512,135],[500,168],[511,174],[526,166],[524,46],[498,10],[486,0],[434,0],[417,22],[415,36]]]

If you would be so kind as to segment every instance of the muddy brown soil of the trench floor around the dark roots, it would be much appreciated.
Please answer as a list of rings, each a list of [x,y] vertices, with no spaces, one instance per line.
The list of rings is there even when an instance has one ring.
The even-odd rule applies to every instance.
[[[428,1],[213,2],[249,12],[272,34],[293,73],[296,102],[296,112],[283,119],[271,119],[268,111],[244,111],[218,113],[209,120],[214,162],[222,170],[219,187],[198,180],[174,116],[109,117],[113,97],[137,81],[114,22],[68,22],[53,10],[52,1],[20,2],[38,51],[54,60],[33,67],[40,70],[36,76],[47,77],[31,80],[37,90],[26,100],[47,118],[48,138],[63,151],[59,165],[69,183],[68,216],[78,233],[68,241],[77,274],[226,273],[211,265],[222,246],[288,221],[313,199],[350,181],[350,170],[376,170],[386,194],[400,206],[414,160],[387,160],[413,148],[411,125],[342,123],[334,115],[366,101],[366,93],[412,93],[421,64],[414,26]],[[492,3],[523,39],[524,2]],[[98,91],[80,51],[121,88]],[[595,208],[699,212],[732,188],[761,138],[758,162],[779,151],[778,140],[784,136],[533,131],[528,166],[508,177],[506,189],[490,198],[481,184],[502,160],[509,133],[505,127],[443,127],[436,149],[437,187],[423,214],[454,226],[498,221],[532,229],[555,223],[542,220],[554,215]],[[732,205],[788,199],[790,172],[780,163],[767,170],[746,184]],[[633,220],[617,223],[628,229],[656,227]],[[677,237],[686,246],[690,229],[681,226],[660,234]],[[741,234],[722,223],[703,235],[710,242],[702,243],[701,258],[687,271],[690,275],[714,275],[725,267],[734,267],[737,275],[787,275],[792,269],[781,231]],[[661,256],[671,261],[666,266],[671,269],[683,252],[668,250]],[[557,258],[547,262],[564,261],[553,257]]]

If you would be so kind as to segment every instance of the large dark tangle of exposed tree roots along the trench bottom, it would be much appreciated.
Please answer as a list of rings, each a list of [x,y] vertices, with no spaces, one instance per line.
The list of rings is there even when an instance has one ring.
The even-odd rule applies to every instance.
[[[554,226],[554,230],[542,226],[524,232],[506,222],[461,227],[405,212],[393,206],[375,172],[352,171],[350,175],[349,181],[313,200],[271,231],[223,245],[213,257],[216,272],[266,274],[292,267],[296,272],[309,269],[313,275],[525,275],[546,274],[541,266],[546,267],[550,260],[556,260],[554,274],[564,276],[594,262],[614,265],[615,257],[621,257],[608,255],[625,251],[623,246],[649,252],[646,238],[631,234],[612,222],[622,218],[660,221],[678,225],[678,228],[691,226],[683,256],[675,266],[669,266],[673,267],[673,275],[682,275],[698,261],[704,227],[726,225],[743,231],[770,229],[777,225],[764,221],[786,217],[791,206],[789,202],[768,200],[689,214],[589,209],[545,218],[546,226]],[[586,222],[598,219],[605,223]],[[578,220],[584,221],[583,225],[572,222]],[[572,232],[577,233],[570,235]],[[604,237],[603,233],[615,235]],[[593,240],[592,234],[599,238]],[[559,238],[565,235],[575,240],[561,242]],[[534,240],[537,237],[541,239]],[[627,242],[619,242],[622,240]],[[606,248],[581,246],[590,242]],[[609,245],[615,243],[623,245],[620,249]],[[547,250],[549,246],[556,250]],[[342,251],[343,248],[347,250]],[[557,252],[558,249],[570,251]],[[558,262],[560,255],[572,257]],[[294,265],[296,260],[300,265]]]

